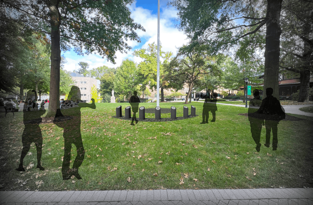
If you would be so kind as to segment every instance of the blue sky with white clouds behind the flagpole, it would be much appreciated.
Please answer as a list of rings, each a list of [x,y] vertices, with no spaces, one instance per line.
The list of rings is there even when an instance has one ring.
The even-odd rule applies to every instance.
[[[176,47],[180,47],[188,41],[186,35],[175,28],[177,10],[173,7],[168,7],[166,4],[167,0],[160,0],[160,41],[163,51],[171,51],[175,55],[177,52]],[[146,32],[137,32],[141,38],[141,43],[129,41],[128,44],[135,50],[147,48],[149,43],[157,43],[157,0],[137,0],[129,8],[131,10],[131,17],[135,22],[140,23],[146,29]],[[103,65],[116,68],[126,58],[140,63],[141,58],[132,56],[133,50],[127,53],[116,52],[116,64],[108,62],[106,58],[102,58],[97,54],[79,56],[73,50],[62,52],[67,60],[64,68],[67,71],[73,71],[76,66],[76,69],[78,69],[80,68],[78,65],[80,61],[87,62],[90,65],[89,69]]]

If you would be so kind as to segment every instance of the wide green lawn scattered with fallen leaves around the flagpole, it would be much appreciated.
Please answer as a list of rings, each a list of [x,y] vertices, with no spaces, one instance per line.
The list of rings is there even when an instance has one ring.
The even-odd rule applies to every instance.
[[[210,122],[212,115],[209,113],[209,123],[200,124],[203,104],[194,102],[187,107],[190,113],[190,106],[195,106],[198,117],[172,122],[138,122],[131,126],[131,121],[111,118],[119,105],[124,115],[129,103],[96,103],[96,109],[81,108],[80,125],[76,123],[79,108],[62,110],[64,115],[74,116],[63,126],[73,135],[79,131],[79,126],[81,128],[86,151],[79,168],[81,180],[62,180],[63,128],[53,123],[40,125],[44,138],[41,164],[45,170],[36,168],[33,143],[29,151],[32,154],[26,155],[23,163],[26,172],[16,171],[22,149],[23,112],[15,113],[14,118],[12,113],[6,118],[0,113],[0,191],[313,185],[312,117],[294,115],[305,120],[280,121],[277,151],[263,146],[263,126],[261,151],[256,153],[248,118],[238,115],[247,113],[247,108],[217,104],[216,121]],[[160,103],[161,108],[175,106],[177,116],[182,116],[184,105]],[[156,103],[140,103],[140,106],[154,108]],[[154,117],[154,114],[146,113],[146,117]],[[161,117],[170,117],[170,114],[161,114]],[[71,154],[74,161],[75,146]]]

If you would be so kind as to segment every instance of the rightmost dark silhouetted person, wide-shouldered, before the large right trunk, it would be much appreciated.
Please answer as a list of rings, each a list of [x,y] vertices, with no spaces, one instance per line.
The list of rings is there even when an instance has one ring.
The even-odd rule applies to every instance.
[[[279,100],[273,95],[273,88],[266,88],[266,98],[262,100],[262,104],[257,111],[259,114],[263,114],[265,120],[265,147],[269,147],[269,141],[271,138],[271,131],[273,132],[273,150],[277,150],[278,138],[277,138],[277,125],[280,120],[285,119],[285,112],[281,108]]]

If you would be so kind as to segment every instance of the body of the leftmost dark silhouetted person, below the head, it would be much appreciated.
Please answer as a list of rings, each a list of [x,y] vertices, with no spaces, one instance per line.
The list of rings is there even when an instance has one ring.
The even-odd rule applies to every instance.
[[[36,92],[36,91],[35,91]],[[23,167],[23,160],[30,149],[30,145],[35,143],[37,149],[37,168],[40,170],[44,170],[41,166],[41,154],[42,154],[42,134],[39,124],[41,123],[42,119],[40,118],[44,115],[45,110],[36,110],[36,111],[24,111],[23,112],[23,123],[25,125],[23,134],[22,134],[22,143],[23,149],[21,153],[20,164],[16,169],[19,172],[25,172]],[[38,119],[35,124],[26,123],[29,120]]]

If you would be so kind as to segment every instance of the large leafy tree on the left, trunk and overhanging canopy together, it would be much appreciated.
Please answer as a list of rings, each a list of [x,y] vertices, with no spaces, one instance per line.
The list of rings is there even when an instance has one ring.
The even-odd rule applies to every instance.
[[[97,52],[115,63],[115,52],[127,52],[127,40],[141,42],[136,30],[145,29],[130,17],[132,0],[3,0],[8,19],[22,22],[51,39],[50,103],[46,117],[62,116],[59,109],[61,49],[80,55]]]

